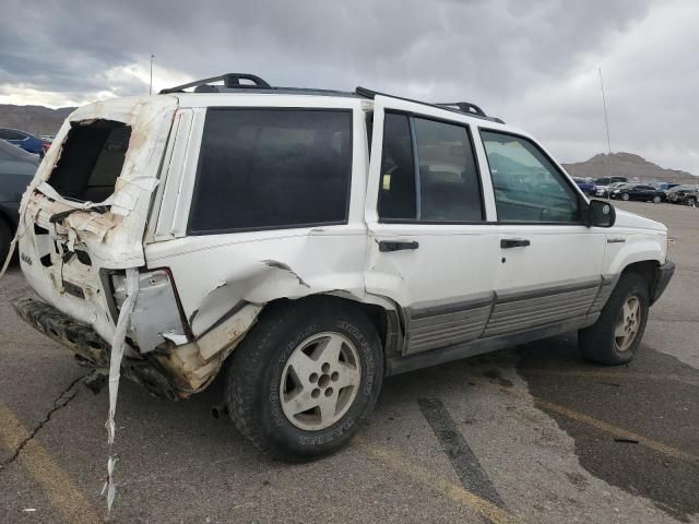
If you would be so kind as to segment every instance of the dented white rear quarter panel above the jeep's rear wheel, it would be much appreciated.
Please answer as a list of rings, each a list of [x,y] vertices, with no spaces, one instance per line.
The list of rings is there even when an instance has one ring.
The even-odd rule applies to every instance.
[[[145,247],[149,265],[173,272],[194,336],[241,302],[345,290],[364,297],[360,225],[187,237]],[[196,270],[193,270],[196,269]]]

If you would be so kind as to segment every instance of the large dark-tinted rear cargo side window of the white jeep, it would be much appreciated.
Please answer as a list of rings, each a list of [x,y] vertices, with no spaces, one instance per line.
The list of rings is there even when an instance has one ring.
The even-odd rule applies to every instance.
[[[209,109],[191,234],[343,224],[350,110]]]

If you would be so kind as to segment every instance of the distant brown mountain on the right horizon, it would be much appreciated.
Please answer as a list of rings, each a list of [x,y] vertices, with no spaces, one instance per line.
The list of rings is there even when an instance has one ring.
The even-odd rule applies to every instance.
[[[597,178],[612,175],[641,182],[699,182],[699,178],[690,172],[665,169],[632,153],[612,153],[611,155],[601,153],[589,160],[562,164],[562,166],[576,177]]]

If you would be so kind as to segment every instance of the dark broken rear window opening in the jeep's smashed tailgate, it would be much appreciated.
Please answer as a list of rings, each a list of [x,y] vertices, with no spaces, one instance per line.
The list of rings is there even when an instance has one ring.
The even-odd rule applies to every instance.
[[[104,201],[114,193],[130,138],[131,127],[122,122],[72,122],[49,183],[66,199]]]

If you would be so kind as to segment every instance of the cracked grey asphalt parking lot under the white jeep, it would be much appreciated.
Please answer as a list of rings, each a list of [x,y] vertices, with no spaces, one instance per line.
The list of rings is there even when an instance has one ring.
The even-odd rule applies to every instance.
[[[387,379],[352,445],[270,461],[211,416],[216,385],[157,400],[121,382],[111,522],[699,522],[699,209],[664,222],[677,271],[628,366],[576,334]],[[102,522],[107,392],[24,324],[0,281],[0,522]]]

